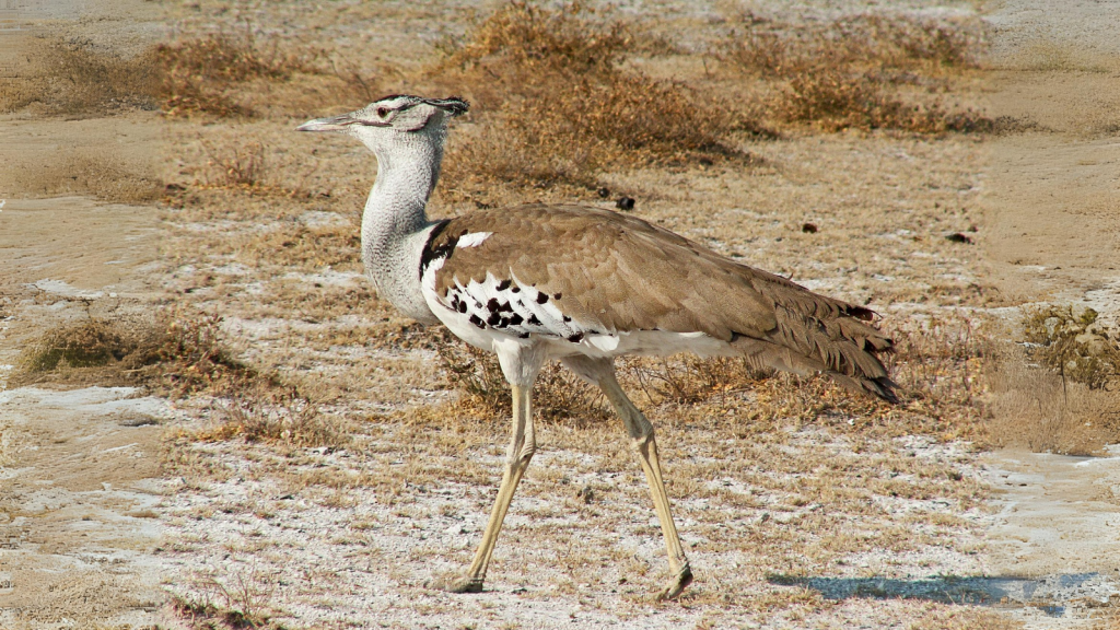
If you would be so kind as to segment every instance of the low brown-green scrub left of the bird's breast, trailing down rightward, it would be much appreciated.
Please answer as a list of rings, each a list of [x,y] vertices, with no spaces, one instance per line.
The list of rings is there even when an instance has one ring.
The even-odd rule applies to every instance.
[[[349,425],[299,388],[261,373],[225,348],[222,317],[183,311],[153,321],[88,321],[48,331],[19,361],[9,386],[37,382],[142,385],[170,397],[207,392],[217,425],[177,437],[244,439],[290,447],[349,444]]]

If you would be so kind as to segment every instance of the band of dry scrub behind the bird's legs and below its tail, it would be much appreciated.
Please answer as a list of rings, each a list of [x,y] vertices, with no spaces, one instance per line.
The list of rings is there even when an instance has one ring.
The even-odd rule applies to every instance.
[[[967,317],[948,317],[890,330],[896,352],[883,359],[900,386],[897,406],[852,395],[827,377],[759,371],[740,359],[625,358],[618,373],[652,414],[660,409],[670,418],[719,421],[734,417],[743,435],[793,424],[986,443],[983,365],[993,348],[978,327]],[[493,353],[466,346],[447,333],[437,351],[470,410],[489,419],[508,415],[508,386]],[[556,363],[542,372],[533,400],[545,419],[599,421],[610,410],[592,389]]]

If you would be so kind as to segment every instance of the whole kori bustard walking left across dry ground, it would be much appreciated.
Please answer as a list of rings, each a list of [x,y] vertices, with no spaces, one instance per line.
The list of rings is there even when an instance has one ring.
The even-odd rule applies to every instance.
[[[531,204],[444,221],[424,214],[439,177],[448,120],[460,99],[393,95],[311,120],[300,131],[337,131],[377,157],[362,217],[362,257],[379,294],[403,314],[442,323],[497,353],[513,389],[513,430],[489,521],[466,574],[448,591],[483,589],[510,501],[536,451],[532,388],[547,361],[597,385],[622,417],[650,484],[675,597],[692,581],[670,513],[653,426],[615,378],[623,354],[744,356],[757,367],[823,372],[861,393],[895,401],[876,359],[890,340],[867,308],[816,295],[728,260],[634,216],[579,205]]]

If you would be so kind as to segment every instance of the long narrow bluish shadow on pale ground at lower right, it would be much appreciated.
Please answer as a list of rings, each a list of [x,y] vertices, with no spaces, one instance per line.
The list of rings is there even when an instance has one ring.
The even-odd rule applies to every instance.
[[[1037,580],[1026,577],[962,577],[941,575],[921,580],[886,577],[795,577],[771,575],[771,584],[801,586],[827,600],[905,599],[972,605],[1029,605],[1062,617],[1072,601],[1120,600],[1120,581],[1101,573],[1065,573]]]

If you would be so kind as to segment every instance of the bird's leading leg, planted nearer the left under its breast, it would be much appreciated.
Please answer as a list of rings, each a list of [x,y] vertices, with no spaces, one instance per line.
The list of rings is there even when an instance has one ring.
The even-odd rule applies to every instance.
[[[491,511],[486,530],[483,531],[483,540],[475,553],[475,559],[470,563],[467,574],[457,578],[451,578],[437,584],[437,587],[451,593],[479,593],[483,590],[483,580],[486,578],[486,567],[489,566],[491,555],[494,554],[494,546],[497,543],[497,535],[502,530],[502,521],[510,509],[510,501],[521,482],[529,461],[536,452],[536,438],[533,434],[533,415],[531,408],[533,386],[513,386],[513,432],[510,439],[510,450],[506,452],[505,473],[502,475],[502,485],[497,491],[497,499],[494,501],[494,509]]]

